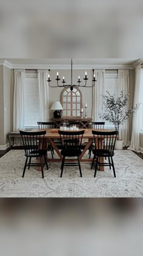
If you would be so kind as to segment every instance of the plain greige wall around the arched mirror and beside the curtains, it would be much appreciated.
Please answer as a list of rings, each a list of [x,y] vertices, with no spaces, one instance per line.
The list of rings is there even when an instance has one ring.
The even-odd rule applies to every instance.
[[[71,71],[70,70],[52,70],[49,72],[51,84],[56,85],[56,73],[59,72],[59,77],[65,76],[65,80],[71,83]],[[87,71],[88,85],[91,86],[91,80],[93,76],[92,70]],[[85,77],[84,70],[73,70],[73,82],[77,84],[78,76],[81,80]],[[63,88],[49,88],[49,108],[54,101],[61,101],[61,93]],[[133,106],[133,96],[135,91],[135,70],[130,69],[130,107]],[[88,104],[87,114],[91,117],[92,112],[92,95],[93,88],[81,88],[83,107],[85,103]],[[14,73],[13,69],[0,66],[0,145],[7,143],[7,133],[13,130],[13,94],[14,94]],[[6,112],[4,108],[6,107]],[[53,117],[53,111],[50,110],[50,118]],[[130,140],[132,130],[132,118],[130,119]],[[143,138],[141,137],[141,145],[143,148]]]

